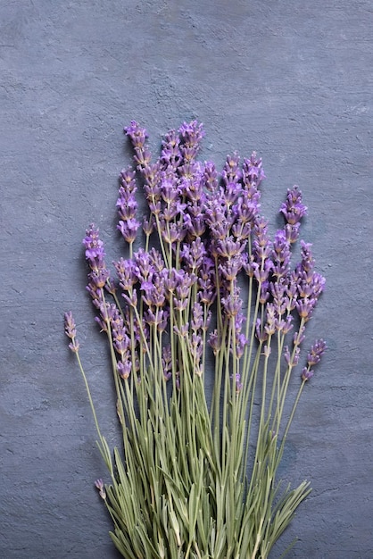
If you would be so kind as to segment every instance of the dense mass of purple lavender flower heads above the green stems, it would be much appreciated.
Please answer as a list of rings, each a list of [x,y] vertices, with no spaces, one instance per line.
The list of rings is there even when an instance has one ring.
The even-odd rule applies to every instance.
[[[184,123],[178,132],[170,130],[155,163],[146,146],[145,129],[132,121],[125,132],[134,146],[149,206],[143,221],[145,249],[133,252],[141,223],[137,220],[136,171],[131,169],[120,173],[117,201],[117,227],[130,255],[113,263],[115,279],[106,267],[104,243],[94,224],[83,241],[90,266],[87,290],[98,311],[95,320],[104,331],[110,325],[120,377],[128,379],[144,370],[140,362],[150,360],[149,347],[163,332],[161,338],[168,343],[162,348],[162,365],[170,363],[166,357],[170,355],[170,335],[177,333],[188,338],[195,372],[203,374],[204,344],[215,302],[218,321],[210,331],[209,343],[217,355],[228,341],[235,354],[233,380],[239,390],[240,359],[252,326],[252,309],[248,309],[249,315],[243,311],[240,275],[246,275],[249,287],[256,289],[260,312],[254,332],[264,351],[269,352],[272,336],[283,339],[295,325],[293,351],[287,345],[284,348],[287,366],[293,368],[299,360],[305,324],[325,285],[314,270],[310,244],[301,241],[302,261],[294,271],[290,269],[291,246],[307,211],[299,188],[287,190],[280,208],[285,225],[271,241],[267,221],[260,213],[259,187],[265,176],[255,153],[242,166],[237,154],[228,155],[219,176],[213,163],[196,160],[204,135],[196,121]],[[149,250],[153,231],[159,235],[159,244]],[[120,301],[107,302],[105,292],[113,295],[118,288]],[[312,346],[303,380],[311,378],[311,366],[319,363],[324,350],[323,340]],[[166,378],[171,376],[169,366],[165,366]]]

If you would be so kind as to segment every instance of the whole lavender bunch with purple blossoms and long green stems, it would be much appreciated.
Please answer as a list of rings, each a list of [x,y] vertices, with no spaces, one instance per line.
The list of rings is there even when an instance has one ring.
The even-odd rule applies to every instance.
[[[126,247],[114,277],[95,225],[83,241],[87,291],[110,346],[121,449],[112,452],[100,430],[65,314],[110,475],[95,485],[111,537],[128,559],[264,559],[311,490],[277,479],[296,406],[326,347],[319,339],[305,351],[294,388],[325,284],[311,245],[301,240],[300,262],[290,262],[307,208],[301,191],[288,189],[284,226],[270,240],[255,153],[242,164],[228,156],[219,175],[196,159],[196,121],[170,130],[154,163],[145,129],[132,121],[125,132],[136,171],[120,173]],[[137,179],[149,208],[143,223]]]

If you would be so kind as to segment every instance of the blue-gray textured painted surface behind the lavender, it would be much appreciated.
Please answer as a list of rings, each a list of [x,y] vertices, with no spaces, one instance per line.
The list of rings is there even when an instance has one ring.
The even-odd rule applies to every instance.
[[[327,291],[309,340],[329,350],[305,391],[282,466],[312,494],[282,540],[303,557],[373,557],[371,0],[18,0],[0,4],[0,555],[113,559],[104,477],[82,380],[63,335],[73,309],[103,430],[103,340],[85,294],[81,238],[108,261],[122,126],[153,151],[197,118],[203,158],[263,157],[272,223],[299,184]],[[279,552],[274,551],[273,557]]]

